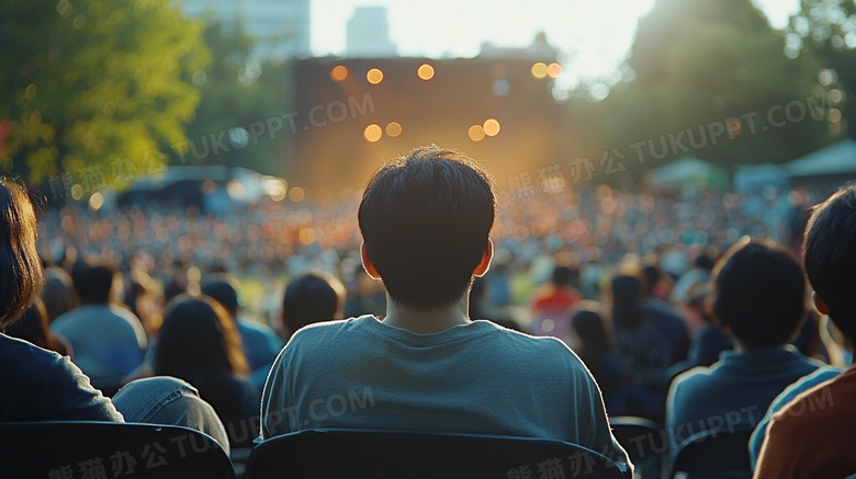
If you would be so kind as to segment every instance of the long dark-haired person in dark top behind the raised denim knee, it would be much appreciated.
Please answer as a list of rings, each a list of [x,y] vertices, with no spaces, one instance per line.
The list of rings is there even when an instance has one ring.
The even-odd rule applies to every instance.
[[[193,385],[226,425],[233,446],[249,446],[257,391],[246,379],[240,337],[223,307],[206,296],[179,296],[167,307],[154,372]]]

